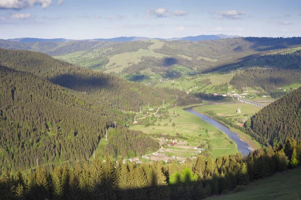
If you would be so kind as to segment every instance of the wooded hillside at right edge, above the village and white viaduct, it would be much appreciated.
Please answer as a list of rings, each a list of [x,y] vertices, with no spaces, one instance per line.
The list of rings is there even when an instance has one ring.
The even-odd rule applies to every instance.
[[[277,87],[301,82],[301,71],[282,68],[247,68],[233,76],[230,84],[244,87],[261,87],[270,92]]]

